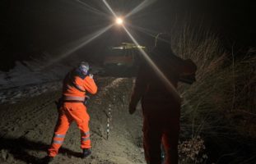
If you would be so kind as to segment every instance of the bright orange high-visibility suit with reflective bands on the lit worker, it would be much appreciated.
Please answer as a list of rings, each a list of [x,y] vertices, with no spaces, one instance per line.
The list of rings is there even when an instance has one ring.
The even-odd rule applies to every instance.
[[[91,148],[89,120],[84,105],[86,92],[95,94],[97,86],[89,75],[81,75],[76,70],[69,72],[63,80],[63,105],[59,108],[58,122],[54,130],[49,157],[55,157],[63,144],[66,132],[72,121],[77,123],[81,131],[81,148]]]

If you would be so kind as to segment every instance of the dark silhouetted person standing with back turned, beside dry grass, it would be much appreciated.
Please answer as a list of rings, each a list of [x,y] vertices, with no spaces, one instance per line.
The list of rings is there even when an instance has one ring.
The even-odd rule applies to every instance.
[[[180,76],[195,75],[197,66],[190,60],[177,57],[170,46],[170,34],[158,34],[151,61],[161,73],[145,59],[139,66],[129,113],[136,111],[141,100],[143,114],[143,148],[150,164],[161,164],[161,144],[165,148],[165,164],[178,163],[179,117],[181,98],[176,89]],[[175,95],[176,94],[176,95]]]

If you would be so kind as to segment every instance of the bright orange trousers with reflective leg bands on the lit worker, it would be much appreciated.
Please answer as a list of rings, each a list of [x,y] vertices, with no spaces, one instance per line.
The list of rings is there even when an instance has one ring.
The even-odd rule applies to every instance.
[[[81,131],[81,148],[91,148],[89,120],[90,116],[87,114],[83,103],[63,103],[63,107],[59,109],[58,122],[55,126],[52,144],[48,150],[49,157],[55,157],[58,154],[58,149],[63,144],[72,121],[77,123]]]

